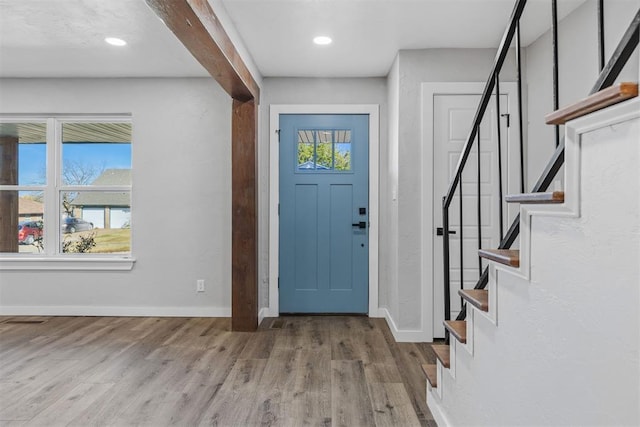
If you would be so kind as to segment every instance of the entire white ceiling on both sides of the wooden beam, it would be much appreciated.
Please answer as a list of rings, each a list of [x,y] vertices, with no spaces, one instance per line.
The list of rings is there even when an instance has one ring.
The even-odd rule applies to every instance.
[[[559,2],[560,16],[584,1]],[[386,75],[399,49],[496,47],[514,0],[222,3],[263,76],[346,77]],[[529,1],[525,45],[549,28],[549,3]],[[0,0],[0,77],[205,75],[144,0]]]

